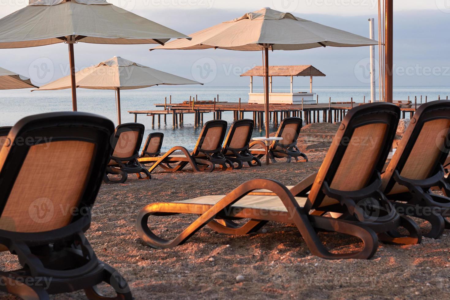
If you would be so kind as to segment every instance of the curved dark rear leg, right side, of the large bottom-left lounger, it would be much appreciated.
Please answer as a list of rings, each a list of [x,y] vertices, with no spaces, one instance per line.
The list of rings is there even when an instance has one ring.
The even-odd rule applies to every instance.
[[[96,286],[85,289],[85,293],[90,300],[132,300],[130,287],[126,280],[121,276],[119,272],[105,264],[104,270],[104,282],[108,283],[114,291],[116,291],[115,297],[103,296]]]

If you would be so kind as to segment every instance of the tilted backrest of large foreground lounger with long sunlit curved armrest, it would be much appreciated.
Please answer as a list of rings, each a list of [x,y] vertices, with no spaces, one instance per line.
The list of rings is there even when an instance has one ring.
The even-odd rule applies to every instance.
[[[351,109],[342,121],[320,166],[307,206],[337,204],[323,193],[357,191],[379,178],[395,137],[400,108],[390,103],[370,103]]]

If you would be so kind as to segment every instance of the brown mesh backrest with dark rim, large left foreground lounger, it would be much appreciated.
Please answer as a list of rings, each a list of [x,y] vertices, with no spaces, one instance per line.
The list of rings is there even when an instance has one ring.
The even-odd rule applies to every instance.
[[[55,112],[18,121],[0,151],[0,229],[36,233],[90,216],[114,125]]]

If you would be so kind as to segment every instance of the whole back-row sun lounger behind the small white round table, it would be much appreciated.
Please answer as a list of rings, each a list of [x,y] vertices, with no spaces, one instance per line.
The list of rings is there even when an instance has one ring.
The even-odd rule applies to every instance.
[[[308,161],[306,154],[297,148],[297,139],[302,129],[302,119],[297,117],[289,117],[281,121],[276,137],[283,138],[279,141],[274,141],[269,146],[269,157],[272,162],[276,158],[286,158],[287,162],[291,162],[292,158],[299,161],[298,157],[302,157],[302,161]],[[263,146],[263,148],[252,148],[255,145]],[[259,159],[266,155],[266,145],[261,141],[253,141],[250,143],[250,152]]]

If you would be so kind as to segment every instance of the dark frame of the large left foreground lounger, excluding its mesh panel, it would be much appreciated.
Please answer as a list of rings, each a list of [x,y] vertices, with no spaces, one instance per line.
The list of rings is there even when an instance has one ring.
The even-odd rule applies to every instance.
[[[80,197],[78,211],[71,223],[46,232],[23,233],[0,230],[0,244],[18,256],[23,268],[0,271],[2,278],[10,278],[0,285],[0,291],[23,299],[49,299],[59,294],[84,289],[89,299],[131,300],[126,281],[112,267],[98,260],[84,232],[90,226],[91,208],[99,191],[104,170],[109,161],[109,139],[114,125],[106,118],[80,112],[55,112],[28,116],[10,130],[12,141],[0,170],[0,214],[8,201],[16,178],[31,146],[45,141],[85,141],[94,143],[92,165]],[[43,139],[35,139],[42,137]],[[15,143],[16,139],[27,143]],[[56,205],[57,203],[55,203]],[[26,282],[26,284],[24,284]],[[42,282],[47,282],[44,287]],[[117,293],[108,298],[99,293],[96,285],[106,282]]]

